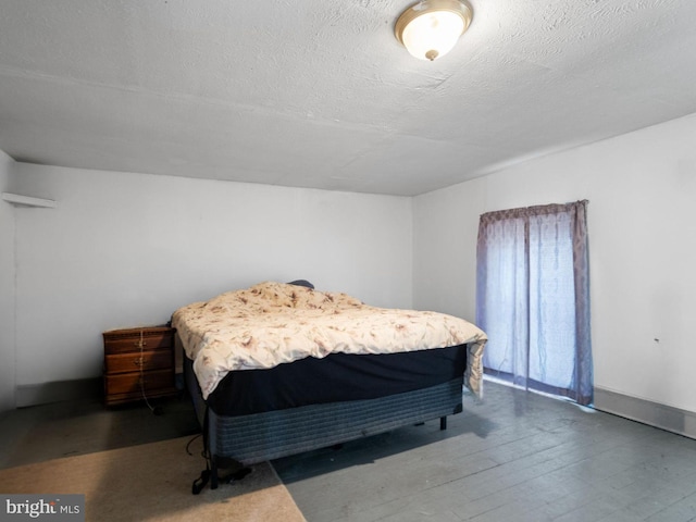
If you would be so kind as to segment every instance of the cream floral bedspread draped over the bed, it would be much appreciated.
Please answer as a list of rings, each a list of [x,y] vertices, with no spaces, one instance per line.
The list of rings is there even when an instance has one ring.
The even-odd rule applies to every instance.
[[[340,293],[265,282],[172,315],[203,398],[231,371],[332,352],[388,353],[469,344],[464,382],[480,395],[486,334],[437,312],[375,308]]]

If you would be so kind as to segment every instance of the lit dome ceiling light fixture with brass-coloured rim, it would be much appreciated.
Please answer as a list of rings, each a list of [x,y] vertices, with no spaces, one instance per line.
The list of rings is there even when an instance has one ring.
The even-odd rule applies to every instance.
[[[421,0],[401,13],[394,34],[415,58],[433,61],[455,47],[472,14],[460,0]]]

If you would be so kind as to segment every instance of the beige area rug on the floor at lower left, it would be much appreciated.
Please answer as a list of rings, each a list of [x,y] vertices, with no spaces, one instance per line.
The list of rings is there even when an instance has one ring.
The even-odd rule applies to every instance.
[[[87,521],[304,521],[273,467],[191,494],[206,468],[191,437],[0,470],[3,494],[84,494]]]

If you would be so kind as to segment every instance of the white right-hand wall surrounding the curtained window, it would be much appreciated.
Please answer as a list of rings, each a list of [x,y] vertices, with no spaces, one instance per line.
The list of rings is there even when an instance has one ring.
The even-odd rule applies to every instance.
[[[481,213],[588,199],[595,385],[696,412],[694,144],[696,115],[415,198],[415,308],[474,316]]]

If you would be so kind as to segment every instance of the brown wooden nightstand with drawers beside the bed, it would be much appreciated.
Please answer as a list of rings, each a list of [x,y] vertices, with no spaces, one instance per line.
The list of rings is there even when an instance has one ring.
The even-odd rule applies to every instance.
[[[176,395],[174,328],[112,330],[104,337],[107,406]]]

